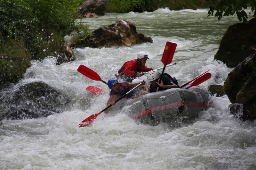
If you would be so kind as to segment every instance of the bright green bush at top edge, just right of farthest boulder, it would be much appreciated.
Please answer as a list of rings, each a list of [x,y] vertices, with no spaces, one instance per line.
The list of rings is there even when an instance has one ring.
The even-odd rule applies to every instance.
[[[112,10],[117,13],[126,13],[138,7],[143,0],[108,0],[108,4]]]

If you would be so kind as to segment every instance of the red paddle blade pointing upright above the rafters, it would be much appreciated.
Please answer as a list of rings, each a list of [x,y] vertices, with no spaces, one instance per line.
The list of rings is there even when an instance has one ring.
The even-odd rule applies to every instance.
[[[177,44],[169,41],[166,42],[166,45],[164,48],[164,54],[162,57],[162,63],[164,63],[164,66],[172,63],[172,58],[173,58],[176,47],[177,47]]]

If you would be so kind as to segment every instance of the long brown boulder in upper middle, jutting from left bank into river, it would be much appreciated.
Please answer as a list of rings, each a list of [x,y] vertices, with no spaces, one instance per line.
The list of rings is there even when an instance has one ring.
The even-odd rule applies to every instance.
[[[116,21],[110,26],[100,27],[92,32],[92,37],[70,43],[71,48],[103,48],[113,46],[132,46],[142,42],[153,42],[151,37],[137,33],[136,26],[125,20]]]

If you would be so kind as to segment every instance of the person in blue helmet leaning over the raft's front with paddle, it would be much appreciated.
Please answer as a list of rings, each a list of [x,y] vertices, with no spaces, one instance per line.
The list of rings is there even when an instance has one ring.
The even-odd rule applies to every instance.
[[[115,78],[111,78],[108,80],[108,88],[111,89],[109,92],[109,99],[107,102],[107,106],[109,106],[110,104],[112,106],[114,106],[116,104],[116,100],[119,99],[120,97],[122,97],[124,94],[126,94],[127,92],[129,92],[130,90],[132,90],[132,88],[134,88],[135,86],[139,85],[140,83],[142,83],[142,85],[146,84],[145,80],[140,80],[140,82],[137,83],[128,83],[128,82],[121,82],[119,83]],[[141,85],[140,85],[141,86]],[[140,87],[138,87],[140,88]],[[136,89],[135,89],[136,90]],[[145,94],[147,92],[139,92],[139,91],[132,91],[131,93],[129,93],[127,96],[125,96],[124,98],[126,99],[135,99],[137,98],[139,95]],[[110,107],[105,110],[105,114],[108,113],[108,111],[110,110]]]

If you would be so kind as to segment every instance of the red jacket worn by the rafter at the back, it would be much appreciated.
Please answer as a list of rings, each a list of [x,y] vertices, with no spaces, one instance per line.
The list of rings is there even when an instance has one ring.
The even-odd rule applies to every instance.
[[[124,65],[121,67],[121,69],[118,70],[118,73],[120,76],[128,76],[128,77],[136,77],[137,72],[146,72],[153,70],[152,68],[148,68],[147,66],[142,66],[138,63],[138,60],[131,60],[128,62],[125,62]]]

